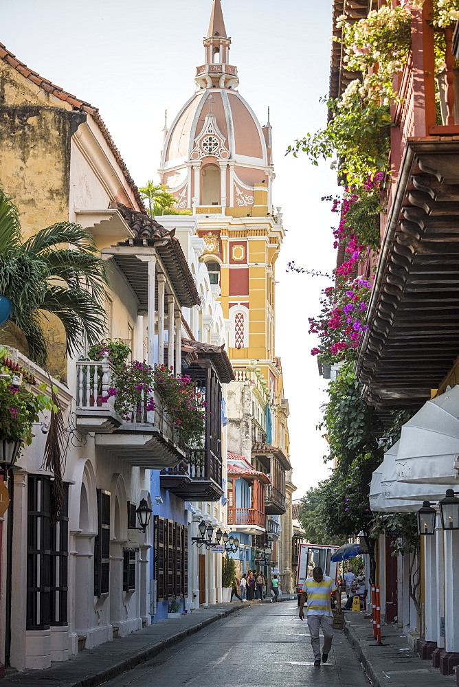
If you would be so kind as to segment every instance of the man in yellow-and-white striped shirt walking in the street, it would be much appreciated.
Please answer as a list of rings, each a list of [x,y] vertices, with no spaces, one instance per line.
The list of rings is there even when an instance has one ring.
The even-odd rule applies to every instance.
[[[322,647],[322,663],[326,663],[331,649],[333,638],[333,613],[331,610],[331,594],[335,594],[338,613],[341,609],[341,594],[330,577],[324,576],[321,567],[315,567],[313,576],[309,577],[303,585],[300,596],[300,620],[304,619],[303,607],[308,600],[306,618],[308,620],[309,633],[311,634],[311,646],[314,653],[314,665],[320,666],[320,639],[319,631],[322,628],[324,634],[324,646]]]

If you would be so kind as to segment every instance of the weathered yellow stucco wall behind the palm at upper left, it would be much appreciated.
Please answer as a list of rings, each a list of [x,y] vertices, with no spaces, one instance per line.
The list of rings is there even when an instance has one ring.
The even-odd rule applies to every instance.
[[[85,115],[0,60],[0,185],[19,209],[23,236],[69,218],[71,131]],[[58,319],[43,322],[48,369],[66,379]],[[18,341],[20,350],[23,342]]]

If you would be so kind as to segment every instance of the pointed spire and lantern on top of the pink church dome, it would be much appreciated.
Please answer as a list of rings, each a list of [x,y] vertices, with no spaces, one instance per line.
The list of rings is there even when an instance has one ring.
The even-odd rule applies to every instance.
[[[221,0],[212,0],[208,34],[204,38],[205,65],[197,67],[195,78],[199,90],[234,89],[238,86],[238,70],[229,64],[230,45],[231,39],[226,35]]]

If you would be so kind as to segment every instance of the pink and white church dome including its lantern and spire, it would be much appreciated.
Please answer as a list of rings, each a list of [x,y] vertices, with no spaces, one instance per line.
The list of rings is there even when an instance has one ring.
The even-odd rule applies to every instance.
[[[229,64],[221,0],[212,0],[204,38],[205,64],[197,67],[197,91],[166,127],[159,174],[177,199],[194,212],[251,212],[271,209],[271,125],[260,122],[236,90],[238,70]],[[214,207],[215,206],[215,207]],[[199,210],[201,208],[201,210]],[[245,213],[245,214],[244,214]],[[234,214],[234,213],[232,213]]]

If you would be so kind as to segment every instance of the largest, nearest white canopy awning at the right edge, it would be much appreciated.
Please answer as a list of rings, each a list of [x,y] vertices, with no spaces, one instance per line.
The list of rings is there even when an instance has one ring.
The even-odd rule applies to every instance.
[[[398,482],[459,484],[459,386],[427,401],[402,427],[395,458]]]

